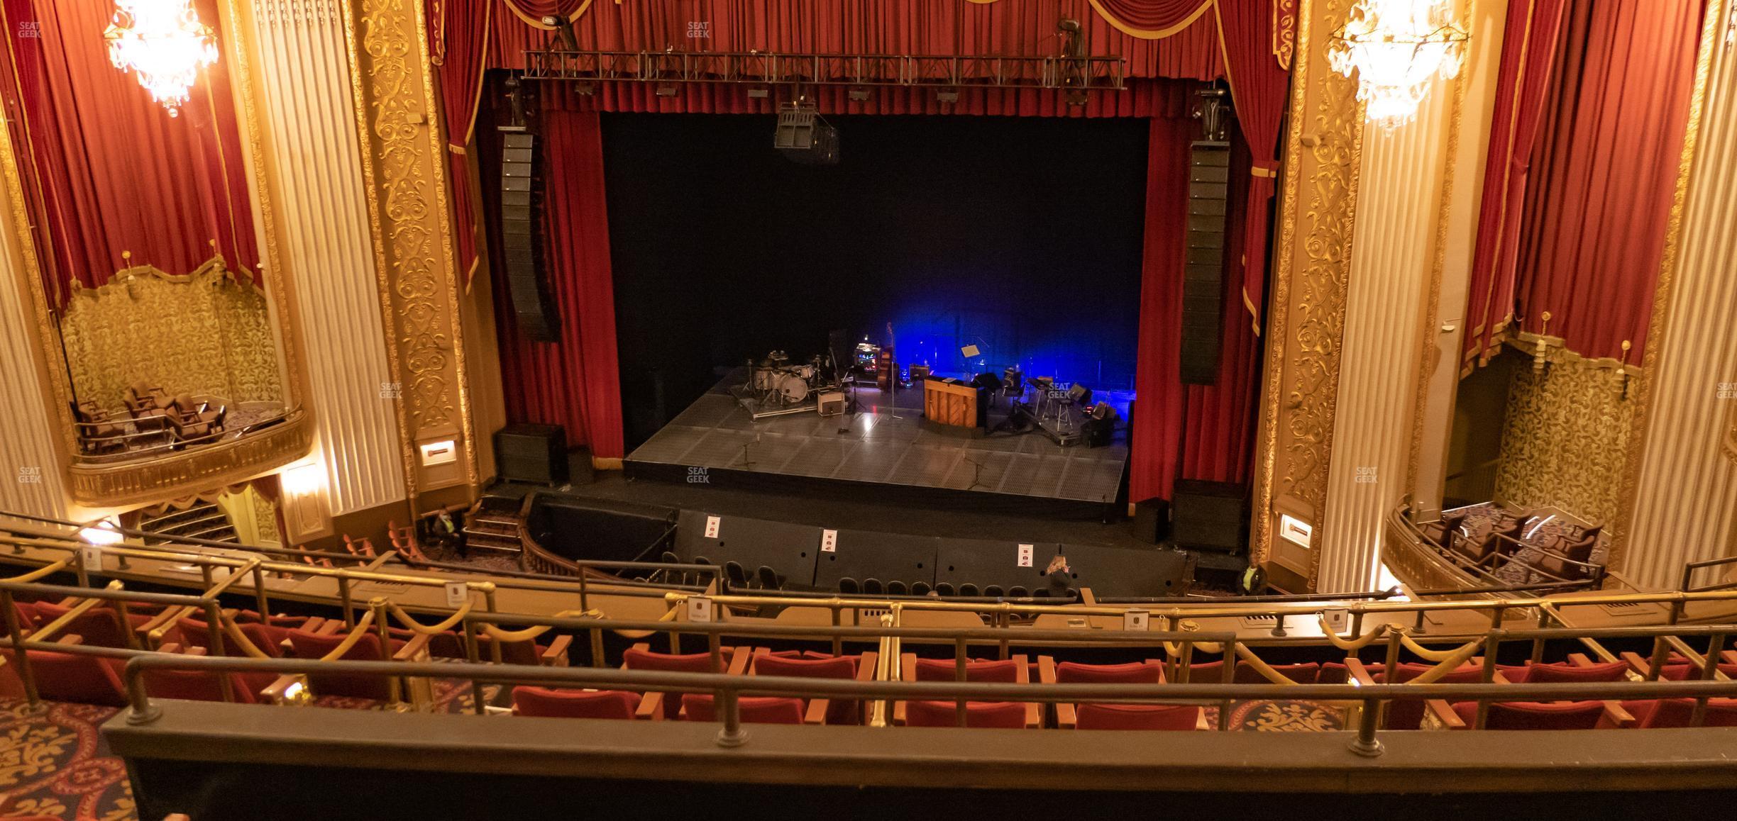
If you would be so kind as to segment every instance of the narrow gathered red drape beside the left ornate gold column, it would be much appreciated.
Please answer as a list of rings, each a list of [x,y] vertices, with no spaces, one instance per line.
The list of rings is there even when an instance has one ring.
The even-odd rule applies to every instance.
[[[459,252],[459,269],[469,288],[476,266],[476,203],[471,194],[471,170],[466,146],[476,128],[476,111],[483,99],[483,69],[488,57],[488,31],[493,0],[427,0],[424,19],[429,26],[434,76],[439,80],[441,118],[446,125],[446,172],[452,179],[452,217]]]

